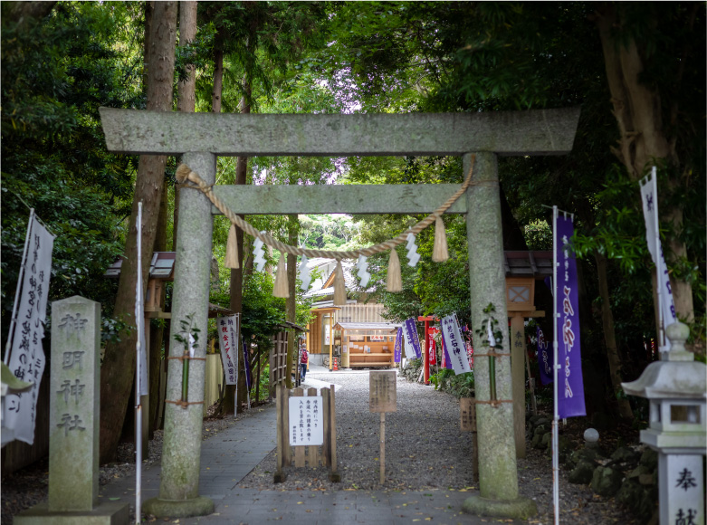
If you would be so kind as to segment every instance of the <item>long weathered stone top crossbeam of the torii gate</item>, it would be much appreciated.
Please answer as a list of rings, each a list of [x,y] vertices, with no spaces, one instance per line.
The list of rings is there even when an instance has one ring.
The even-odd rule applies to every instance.
[[[485,113],[180,113],[100,108],[110,151],[218,156],[563,155],[579,108]]]

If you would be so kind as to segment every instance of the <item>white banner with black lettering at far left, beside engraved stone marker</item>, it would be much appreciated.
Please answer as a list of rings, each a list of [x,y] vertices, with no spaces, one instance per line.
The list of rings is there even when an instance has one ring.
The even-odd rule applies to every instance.
[[[24,279],[19,307],[16,310],[14,330],[10,334],[12,350],[8,366],[14,377],[32,381],[27,392],[8,394],[4,399],[3,444],[13,439],[34,443],[34,422],[37,411],[37,394],[42,380],[46,358],[42,347],[44,320],[46,318],[49,278],[52,273],[54,236],[32,215],[29,231],[27,258],[24,262]]]

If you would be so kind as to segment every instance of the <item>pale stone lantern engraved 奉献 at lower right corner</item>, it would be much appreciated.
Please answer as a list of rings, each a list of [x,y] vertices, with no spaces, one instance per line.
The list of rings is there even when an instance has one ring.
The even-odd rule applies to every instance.
[[[658,452],[660,523],[704,525],[702,455],[707,446],[707,367],[684,343],[690,330],[676,322],[665,329],[671,342],[660,361],[645,368],[626,394],[650,401],[641,441]]]

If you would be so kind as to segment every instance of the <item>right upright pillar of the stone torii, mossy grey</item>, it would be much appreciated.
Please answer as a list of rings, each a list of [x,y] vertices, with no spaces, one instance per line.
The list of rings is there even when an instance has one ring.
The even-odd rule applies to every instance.
[[[469,275],[471,291],[474,348],[485,353],[486,323],[490,318],[498,321],[497,329],[502,339],[496,351],[510,353],[508,314],[506,311],[506,280],[503,268],[503,239],[501,224],[501,197],[498,179],[498,161],[492,152],[475,153],[473,186],[466,191],[466,236],[469,245]],[[468,173],[472,155],[463,156],[463,172]],[[484,313],[492,304],[495,311]],[[474,359],[476,424],[479,446],[479,496],[464,501],[463,510],[472,514],[527,519],[537,513],[535,502],[520,498],[518,494],[518,467],[516,463],[513,430],[513,398],[511,383],[511,358],[495,358],[495,398],[502,401],[496,406],[492,399],[491,358]]]

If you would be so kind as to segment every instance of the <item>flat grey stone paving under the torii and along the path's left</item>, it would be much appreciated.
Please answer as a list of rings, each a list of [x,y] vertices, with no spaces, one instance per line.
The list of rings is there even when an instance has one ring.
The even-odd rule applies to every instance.
[[[308,377],[307,387],[319,387]],[[327,385],[328,386],[328,385]],[[282,521],[288,525],[339,523],[477,524],[496,522],[463,514],[462,503],[473,492],[458,491],[257,491],[236,485],[276,446],[275,408],[251,417],[202,442],[199,495],[215,502],[209,516],[171,519],[180,525]],[[142,501],[158,496],[160,467],[142,474]],[[101,487],[100,501],[125,501],[135,508],[135,479],[124,478]],[[158,519],[158,521],[161,521]],[[504,519],[505,523],[521,523]]]

